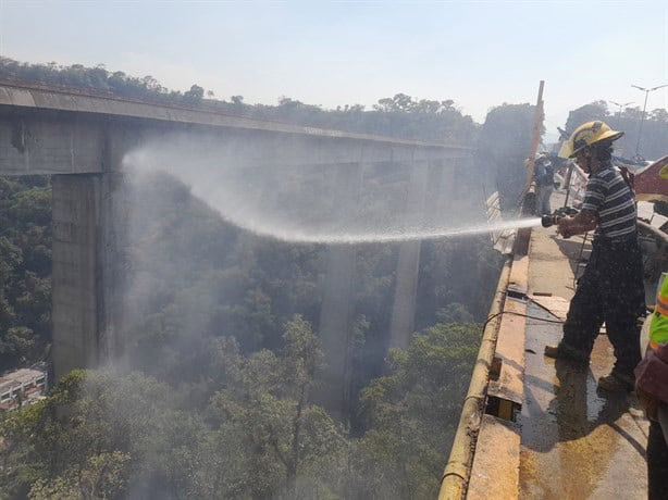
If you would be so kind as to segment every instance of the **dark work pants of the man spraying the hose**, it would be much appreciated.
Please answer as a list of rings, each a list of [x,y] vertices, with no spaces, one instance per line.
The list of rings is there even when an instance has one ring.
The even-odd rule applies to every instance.
[[[644,315],[645,290],[638,239],[622,243],[595,239],[570,302],[562,342],[590,354],[605,322],[617,358],[614,373],[633,376],[641,359],[638,318]]]

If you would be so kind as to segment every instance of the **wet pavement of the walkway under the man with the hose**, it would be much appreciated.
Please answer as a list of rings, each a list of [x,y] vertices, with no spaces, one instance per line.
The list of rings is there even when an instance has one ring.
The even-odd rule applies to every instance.
[[[607,337],[596,340],[589,365],[543,355],[561,338],[561,326],[542,320],[564,318],[581,243],[557,238],[554,228],[532,233],[529,291],[536,296],[528,314],[536,318],[527,321],[520,498],[642,499],[648,425],[634,395],[597,392],[598,377],[614,363]]]

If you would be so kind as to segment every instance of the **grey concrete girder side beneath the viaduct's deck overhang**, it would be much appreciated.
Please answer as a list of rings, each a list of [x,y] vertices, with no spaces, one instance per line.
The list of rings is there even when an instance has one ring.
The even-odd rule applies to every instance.
[[[334,165],[400,162],[413,157],[461,158],[459,150],[416,149],[403,145],[362,143],[348,138],[310,137],[268,132],[209,129],[136,120],[104,120],[53,113],[2,114],[0,175],[83,174],[116,171],[134,146],[172,145],[186,138],[194,151],[214,152],[247,165]]]

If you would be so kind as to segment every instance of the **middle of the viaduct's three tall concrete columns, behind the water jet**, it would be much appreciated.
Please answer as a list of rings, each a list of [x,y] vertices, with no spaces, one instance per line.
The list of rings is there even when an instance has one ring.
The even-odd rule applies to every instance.
[[[362,166],[358,163],[337,165],[336,189],[339,215],[351,220],[357,211],[361,188]],[[357,249],[352,245],[329,249],[320,309],[320,342],[326,366],[322,372],[323,388],[317,401],[342,422],[348,418],[350,386],[350,322],[355,292],[355,262]]]

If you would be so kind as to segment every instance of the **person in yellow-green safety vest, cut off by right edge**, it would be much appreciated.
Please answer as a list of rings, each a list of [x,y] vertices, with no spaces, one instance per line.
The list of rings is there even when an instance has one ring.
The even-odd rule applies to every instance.
[[[668,498],[668,273],[656,298],[645,359],[635,368],[635,392],[650,420],[650,500]]]

